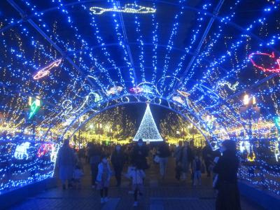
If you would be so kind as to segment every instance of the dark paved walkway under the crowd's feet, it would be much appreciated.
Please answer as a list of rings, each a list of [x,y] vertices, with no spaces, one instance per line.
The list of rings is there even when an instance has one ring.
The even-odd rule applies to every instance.
[[[90,186],[89,166],[85,165],[83,186],[80,190],[62,190],[54,188],[44,193],[30,197],[25,202],[12,209],[101,209],[101,210],[129,210],[129,209],[215,209],[215,192],[211,188],[211,179],[202,175],[202,186],[192,187],[190,177],[188,181],[176,181],[174,179],[174,162],[169,160],[167,178],[159,181],[158,165],[151,165],[147,171],[145,180],[145,193],[139,200],[139,207],[132,207],[133,195],[128,194],[130,181],[123,179],[120,188],[109,188],[110,200],[106,204],[100,204],[99,192],[92,190]],[[111,186],[115,186],[114,179]],[[255,206],[241,198],[242,209],[258,210]]]

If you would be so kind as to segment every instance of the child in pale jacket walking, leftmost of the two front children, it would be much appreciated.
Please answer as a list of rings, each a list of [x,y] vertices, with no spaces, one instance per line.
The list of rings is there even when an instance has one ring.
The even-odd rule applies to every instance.
[[[101,203],[108,202],[108,188],[111,178],[111,168],[109,165],[108,158],[102,156],[102,160],[98,165],[98,174],[97,174],[97,189],[100,190]]]

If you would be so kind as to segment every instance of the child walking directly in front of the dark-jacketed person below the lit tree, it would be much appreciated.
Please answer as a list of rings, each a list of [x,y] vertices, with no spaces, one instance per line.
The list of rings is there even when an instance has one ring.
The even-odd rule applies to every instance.
[[[144,188],[144,178],[146,174],[139,167],[131,167],[130,172],[128,172],[127,177],[132,179],[132,189],[134,190],[134,204],[133,207],[138,206],[138,194],[142,195]]]

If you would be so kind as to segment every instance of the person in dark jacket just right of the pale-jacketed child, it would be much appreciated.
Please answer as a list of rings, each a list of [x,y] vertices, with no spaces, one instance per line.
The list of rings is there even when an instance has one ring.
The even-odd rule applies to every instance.
[[[115,171],[117,186],[119,187],[122,178],[123,165],[125,165],[125,153],[123,153],[119,144],[116,146],[116,150],[113,151],[111,162]]]

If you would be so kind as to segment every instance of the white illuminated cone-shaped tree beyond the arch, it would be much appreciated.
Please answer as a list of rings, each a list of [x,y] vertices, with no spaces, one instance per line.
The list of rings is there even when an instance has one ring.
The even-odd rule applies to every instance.
[[[163,141],[160,132],[158,132],[158,127],[155,125],[149,104],[133,140],[138,141],[139,139],[143,139],[143,141]]]

